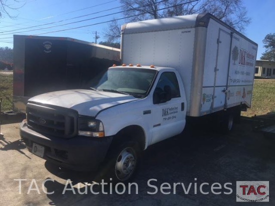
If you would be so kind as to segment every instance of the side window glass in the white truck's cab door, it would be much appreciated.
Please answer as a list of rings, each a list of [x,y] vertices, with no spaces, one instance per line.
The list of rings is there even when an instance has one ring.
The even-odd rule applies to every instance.
[[[169,97],[165,95],[169,95]],[[180,97],[180,92],[175,73],[163,72],[153,92],[153,104],[165,102],[165,99],[170,100],[176,97]]]

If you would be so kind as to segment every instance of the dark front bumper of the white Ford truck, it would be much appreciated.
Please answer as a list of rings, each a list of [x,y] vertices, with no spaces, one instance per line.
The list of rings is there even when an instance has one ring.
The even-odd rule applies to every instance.
[[[60,138],[43,135],[29,129],[26,120],[20,124],[20,136],[29,151],[32,144],[44,146],[42,158],[49,160],[65,168],[84,171],[94,170],[104,160],[112,137],[87,137],[75,136],[72,138]]]

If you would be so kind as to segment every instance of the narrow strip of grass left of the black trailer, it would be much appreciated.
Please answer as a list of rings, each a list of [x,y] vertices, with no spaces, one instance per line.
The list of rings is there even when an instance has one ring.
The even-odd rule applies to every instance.
[[[1,111],[12,110],[13,74],[10,72],[0,72],[0,98]]]

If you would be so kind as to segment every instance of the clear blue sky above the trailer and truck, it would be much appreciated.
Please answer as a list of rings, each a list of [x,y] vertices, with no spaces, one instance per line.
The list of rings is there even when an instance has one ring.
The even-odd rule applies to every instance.
[[[275,12],[273,11],[275,1],[242,1],[248,17],[251,18],[251,23],[246,27],[244,35],[258,44],[257,59],[259,59],[265,50],[262,44],[264,36],[275,33]],[[94,42],[95,31],[97,31],[100,36],[97,41],[104,41],[107,23],[102,22],[109,21],[113,17],[122,17],[121,13],[108,15],[121,11],[119,0],[26,0],[25,4],[21,5],[22,7],[17,10],[9,10],[11,15],[16,16],[15,18],[9,18],[6,14],[0,18],[0,46],[12,47],[12,34],[64,36]],[[14,6],[18,7],[20,3]],[[98,17],[102,15],[106,16]],[[82,21],[84,19],[89,20]],[[73,21],[81,22],[71,23]],[[49,24],[52,22],[55,23]],[[37,26],[41,24],[46,25]],[[60,26],[60,24],[66,25]],[[72,27],[81,28],[70,29]],[[70,30],[52,32],[63,29]]]

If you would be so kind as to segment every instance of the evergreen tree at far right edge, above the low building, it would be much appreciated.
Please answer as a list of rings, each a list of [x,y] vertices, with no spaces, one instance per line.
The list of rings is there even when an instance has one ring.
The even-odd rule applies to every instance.
[[[268,33],[262,40],[265,51],[261,54],[260,59],[275,61],[275,33]]]

